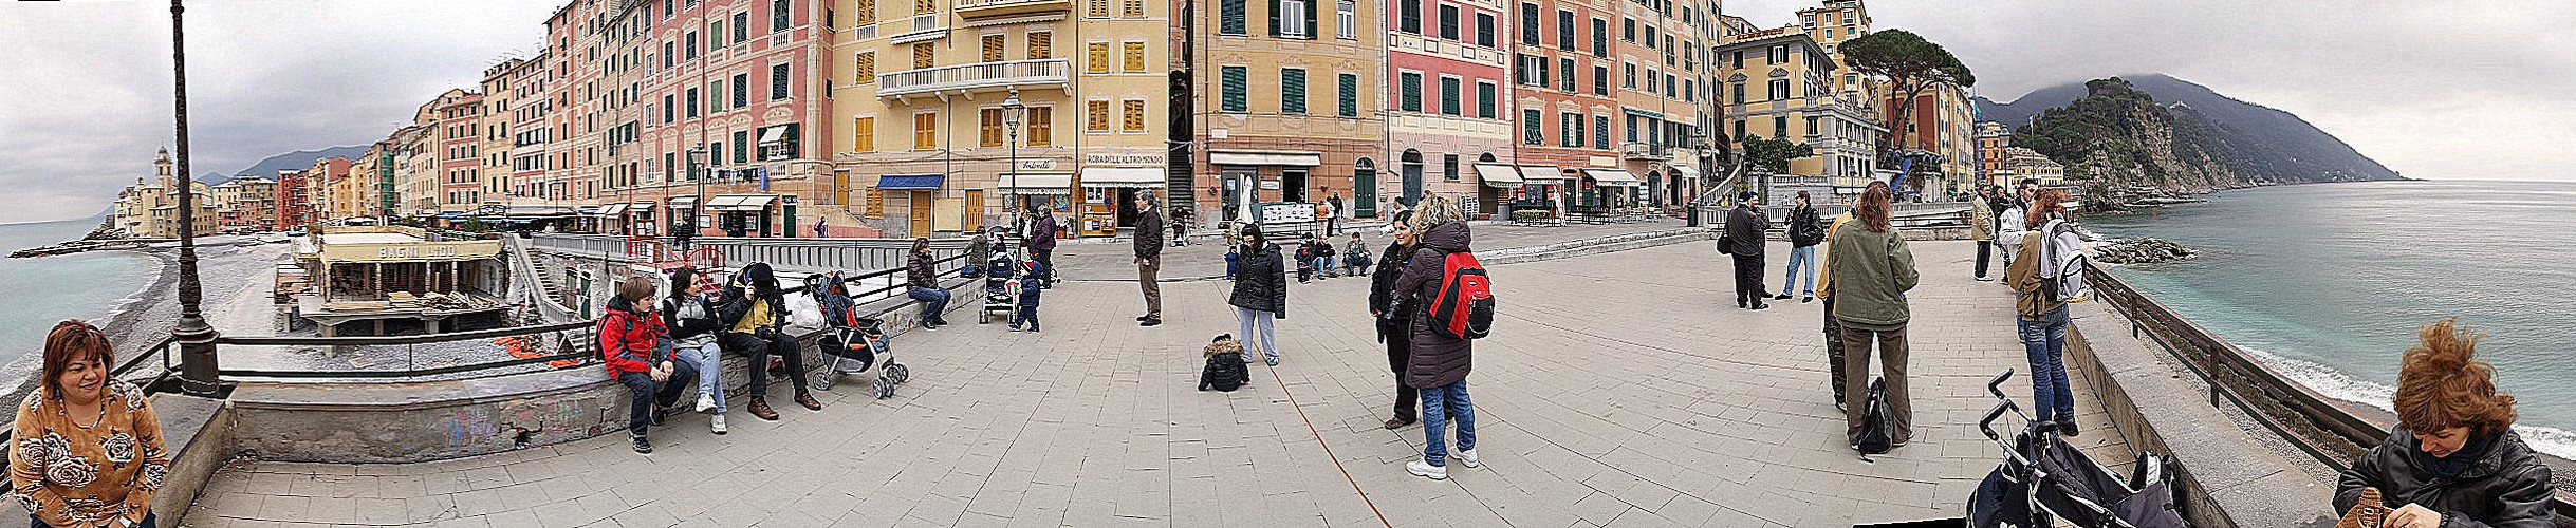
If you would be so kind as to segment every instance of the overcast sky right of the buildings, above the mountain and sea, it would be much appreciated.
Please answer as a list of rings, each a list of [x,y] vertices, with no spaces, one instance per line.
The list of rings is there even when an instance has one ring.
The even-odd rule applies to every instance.
[[[1814,0],[1728,0],[1785,26]],[[1976,93],[2166,72],[2282,108],[2411,178],[2576,178],[2576,3],[2563,0],[1981,0],[1870,3],[1878,28],[1947,46]]]

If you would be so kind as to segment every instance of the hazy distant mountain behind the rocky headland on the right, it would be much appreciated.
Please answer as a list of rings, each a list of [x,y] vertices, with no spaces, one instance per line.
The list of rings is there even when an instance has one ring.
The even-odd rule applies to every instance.
[[[2197,113],[2197,118],[2210,121],[2208,137],[2228,144],[2228,149],[2221,152],[2226,152],[2226,157],[2241,157],[2223,160],[2223,165],[2236,165],[2244,173],[2241,183],[2254,178],[2277,183],[2403,180],[2396,170],[2388,170],[2378,160],[2352,149],[2352,144],[2344,144],[2344,139],[2316,129],[2295,113],[2228,98],[2218,90],[2177,80],[2172,75],[2123,75],[2120,80],[2128,80],[2130,88],[2151,95],[2159,106],[2179,103],[2182,108],[2190,108],[2190,113]],[[2043,111],[2066,108],[2079,98],[2087,98],[2087,82],[2066,82],[2030,90],[2012,103],[1986,98],[1976,98],[1976,103],[1986,121],[2002,121],[2022,129],[2030,126]],[[2074,160],[2058,162],[2074,165]]]

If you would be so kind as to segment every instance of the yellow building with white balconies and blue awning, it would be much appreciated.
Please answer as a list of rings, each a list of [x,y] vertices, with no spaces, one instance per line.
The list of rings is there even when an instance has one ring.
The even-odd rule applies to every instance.
[[[835,0],[848,28],[824,49],[850,64],[829,82],[840,216],[889,237],[958,232],[1007,222],[1020,196],[1087,232],[1133,222],[1123,196],[1167,180],[1170,8]]]

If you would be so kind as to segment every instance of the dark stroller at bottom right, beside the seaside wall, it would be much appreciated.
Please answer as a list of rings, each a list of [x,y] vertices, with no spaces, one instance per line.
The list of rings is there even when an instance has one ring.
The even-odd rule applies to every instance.
[[[1986,433],[1986,440],[2004,448],[2004,464],[1986,474],[1986,482],[1978,482],[1976,495],[1968,497],[1968,525],[2030,528],[2056,525],[2056,520],[2123,528],[2190,525],[2174,510],[2179,502],[2174,497],[2177,469],[2169,456],[2141,453],[2123,479],[2117,471],[2094,464],[2084,451],[2076,451],[2076,446],[2069,446],[2053,428],[2032,428],[2030,415],[2022,415],[2004,397],[2002,384],[2007,379],[2012,379],[2009,368],[1986,381],[1986,391],[1999,402],[1976,428]],[[2022,433],[2012,435],[2012,440],[1994,433],[1994,420],[2004,417],[2004,412],[2022,417]]]

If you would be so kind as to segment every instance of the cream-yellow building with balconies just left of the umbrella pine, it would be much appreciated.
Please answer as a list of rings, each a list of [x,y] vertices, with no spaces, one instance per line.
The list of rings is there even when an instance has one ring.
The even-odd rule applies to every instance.
[[[1816,149],[1790,160],[1790,175],[1824,175],[1834,185],[1873,178],[1870,155],[1886,126],[1857,93],[1834,85],[1834,62],[1816,39],[1798,31],[1757,31],[1716,46],[1723,131],[1741,147],[1747,137],[1790,137]]]

